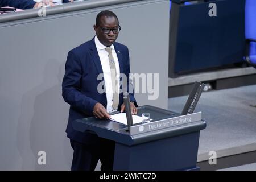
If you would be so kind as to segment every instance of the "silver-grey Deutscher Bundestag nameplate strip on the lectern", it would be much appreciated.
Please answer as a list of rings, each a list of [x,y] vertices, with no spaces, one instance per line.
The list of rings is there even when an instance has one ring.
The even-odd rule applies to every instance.
[[[146,133],[154,130],[165,129],[167,127],[174,127],[184,125],[186,123],[201,121],[202,113],[192,113],[187,115],[180,115],[174,118],[162,119],[159,121],[153,121],[150,123],[144,123],[142,125],[135,125],[130,127],[130,135],[136,135]]]

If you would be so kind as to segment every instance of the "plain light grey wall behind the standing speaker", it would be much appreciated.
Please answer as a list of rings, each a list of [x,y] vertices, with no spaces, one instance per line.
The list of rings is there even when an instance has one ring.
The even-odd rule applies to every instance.
[[[159,98],[139,105],[167,109],[169,1],[139,1],[0,24],[0,170],[69,170],[65,134],[69,105],[61,97],[67,52],[92,39],[98,12],[113,10],[118,42],[130,51],[131,72],[159,73]],[[46,151],[46,165],[38,164]]]

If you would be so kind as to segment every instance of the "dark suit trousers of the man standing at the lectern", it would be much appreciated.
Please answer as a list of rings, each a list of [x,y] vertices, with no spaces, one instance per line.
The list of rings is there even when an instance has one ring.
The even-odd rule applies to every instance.
[[[85,144],[70,139],[73,148],[72,171],[94,171],[98,160],[101,171],[113,171],[115,142],[99,138],[97,142]]]

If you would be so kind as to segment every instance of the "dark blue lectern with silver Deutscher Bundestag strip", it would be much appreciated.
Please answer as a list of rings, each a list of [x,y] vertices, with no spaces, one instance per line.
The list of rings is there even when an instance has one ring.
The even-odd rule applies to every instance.
[[[108,119],[89,117],[73,121],[73,128],[90,131],[115,142],[114,170],[198,170],[200,130],[206,123],[200,113],[180,115],[145,105],[137,115],[150,113],[150,123],[130,127]]]

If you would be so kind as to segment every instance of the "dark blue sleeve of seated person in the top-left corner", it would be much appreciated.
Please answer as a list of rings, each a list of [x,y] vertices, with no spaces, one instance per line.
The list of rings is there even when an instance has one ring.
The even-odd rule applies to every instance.
[[[18,9],[30,9],[35,6],[36,2],[33,0],[1,0],[0,7],[10,6]]]

